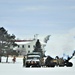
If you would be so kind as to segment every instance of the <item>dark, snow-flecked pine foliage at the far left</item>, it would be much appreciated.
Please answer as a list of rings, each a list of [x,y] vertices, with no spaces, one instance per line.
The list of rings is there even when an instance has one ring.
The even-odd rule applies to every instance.
[[[0,56],[14,55],[13,46],[17,46],[15,38],[14,34],[9,34],[4,27],[0,27]]]

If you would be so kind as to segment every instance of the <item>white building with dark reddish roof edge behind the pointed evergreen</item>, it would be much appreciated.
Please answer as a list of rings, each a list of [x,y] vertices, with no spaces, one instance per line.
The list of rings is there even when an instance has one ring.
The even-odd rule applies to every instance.
[[[14,47],[13,49],[16,50],[19,53],[19,55],[27,55],[27,53],[32,52],[34,50],[36,41],[37,38],[34,38],[32,40],[15,40],[15,43],[18,46]],[[43,52],[45,52],[45,46],[47,42],[40,41],[40,43]]]

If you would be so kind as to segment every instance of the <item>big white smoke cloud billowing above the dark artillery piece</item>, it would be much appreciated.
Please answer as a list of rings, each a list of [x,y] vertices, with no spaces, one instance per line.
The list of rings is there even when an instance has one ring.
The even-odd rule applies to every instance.
[[[45,49],[46,55],[62,57],[65,53],[71,56],[75,50],[75,28],[66,34],[55,34],[50,37]]]

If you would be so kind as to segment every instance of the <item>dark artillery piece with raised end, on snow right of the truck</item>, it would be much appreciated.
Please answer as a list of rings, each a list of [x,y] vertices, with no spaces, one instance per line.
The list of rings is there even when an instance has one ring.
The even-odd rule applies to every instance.
[[[58,56],[56,56],[56,58],[52,58],[50,56],[48,56],[45,60],[45,66],[46,67],[55,67],[55,66],[67,66],[67,67],[72,67],[73,63],[70,62],[70,59],[73,58],[73,56],[75,55],[75,51],[73,52],[71,57],[68,57],[66,60],[64,60],[63,58],[59,58]]]

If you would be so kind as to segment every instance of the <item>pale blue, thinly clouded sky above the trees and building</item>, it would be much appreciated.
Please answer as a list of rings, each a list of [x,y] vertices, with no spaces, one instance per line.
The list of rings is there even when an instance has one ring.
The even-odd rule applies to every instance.
[[[17,38],[64,34],[75,28],[75,0],[0,0],[0,27]]]

